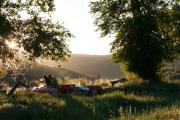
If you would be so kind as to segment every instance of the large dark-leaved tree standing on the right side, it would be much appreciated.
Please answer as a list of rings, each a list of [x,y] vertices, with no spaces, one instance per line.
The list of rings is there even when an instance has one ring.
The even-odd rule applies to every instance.
[[[179,0],[98,0],[90,7],[102,36],[115,35],[115,62],[142,78],[158,80],[162,63],[179,53]]]

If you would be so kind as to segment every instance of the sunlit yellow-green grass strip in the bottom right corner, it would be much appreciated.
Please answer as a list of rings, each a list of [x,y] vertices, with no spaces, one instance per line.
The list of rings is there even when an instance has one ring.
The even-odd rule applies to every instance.
[[[180,110],[177,106],[159,107],[149,112],[135,113],[132,108],[120,108],[120,116],[111,120],[179,120]]]

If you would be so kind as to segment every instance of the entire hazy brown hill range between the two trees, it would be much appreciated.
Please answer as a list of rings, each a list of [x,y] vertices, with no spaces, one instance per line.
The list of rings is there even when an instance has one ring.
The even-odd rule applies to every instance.
[[[58,65],[61,65],[61,68]],[[40,61],[26,73],[27,79],[40,79],[43,74],[52,74],[56,78],[101,78],[115,79],[122,77],[118,64],[112,63],[111,55],[80,55],[73,54],[68,62],[56,63],[50,60]]]

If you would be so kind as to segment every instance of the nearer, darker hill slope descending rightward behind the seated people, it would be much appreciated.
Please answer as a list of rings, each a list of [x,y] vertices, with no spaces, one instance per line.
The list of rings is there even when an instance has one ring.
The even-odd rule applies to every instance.
[[[74,72],[72,70],[59,68],[59,67],[49,67],[45,65],[35,65],[33,68],[31,68],[25,73],[25,76],[28,80],[37,80],[37,79],[41,79],[44,74],[47,75],[51,74],[58,79],[64,77],[69,77],[69,78],[87,77],[83,74]]]

